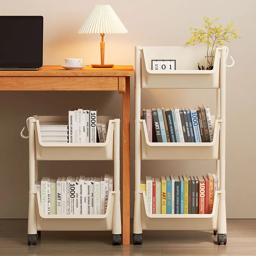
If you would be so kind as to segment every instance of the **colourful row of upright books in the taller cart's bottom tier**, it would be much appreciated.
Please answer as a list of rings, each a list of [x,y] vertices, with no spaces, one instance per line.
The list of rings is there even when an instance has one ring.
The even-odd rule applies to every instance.
[[[218,190],[216,174],[199,176],[146,176],[140,182],[145,191],[148,213],[152,214],[211,214],[215,191]]]

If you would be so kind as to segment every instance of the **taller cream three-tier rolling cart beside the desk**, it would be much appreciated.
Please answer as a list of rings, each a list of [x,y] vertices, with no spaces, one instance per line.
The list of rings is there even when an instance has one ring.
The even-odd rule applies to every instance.
[[[142,230],[213,230],[215,235],[218,233],[218,244],[227,243],[225,202],[227,51],[227,47],[217,48],[213,69],[198,70],[197,63],[200,62],[203,65],[205,63],[207,47],[135,47],[134,244],[142,244]],[[157,59],[176,60],[176,70],[151,70],[151,60]],[[141,120],[141,89],[147,88],[216,89],[217,115],[212,116],[213,141],[206,143],[149,142],[145,120]],[[215,192],[212,213],[204,215],[148,213],[145,191],[140,191],[140,161],[155,159],[216,159],[219,188]]]

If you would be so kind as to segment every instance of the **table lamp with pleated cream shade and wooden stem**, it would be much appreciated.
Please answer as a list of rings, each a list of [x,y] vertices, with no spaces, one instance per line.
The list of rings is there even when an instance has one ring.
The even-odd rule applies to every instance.
[[[106,34],[128,33],[122,21],[109,4],[97,4],[93,7],[90,15],[84,21],[84,24],[77,31],[79,34],[98,33],[101,36],[100,59],[101,64],[92,64],[93,68],[112,68],[114,64],[104,63]]]

